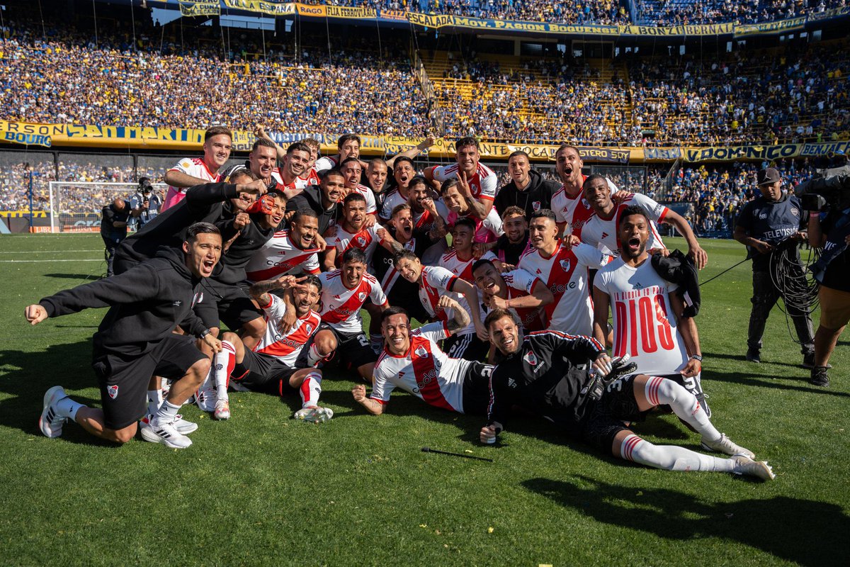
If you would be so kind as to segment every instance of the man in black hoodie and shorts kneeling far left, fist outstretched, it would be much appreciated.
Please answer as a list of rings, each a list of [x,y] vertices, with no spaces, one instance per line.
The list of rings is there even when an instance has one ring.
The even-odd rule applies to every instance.
[[[190,433],[197,426],[178,419],[177,411],[207,376],[210,360],[195,347],[194,338],[172,331],[182,326],[213,351],[221,349],[192,312],[201,282],[221,257],[221,246],[214,225],[192,224],[182,250],[163,248],[156,258],[121,275],[59,292],[26,308],[32,325],[82,309],[110,308],[94,334],[92,367],[103,409],[79,404],[61,386],[54,386],[44,394],[38,420],[42,434],[59,437],[65,420],[71,419],[96,437],[126,443],[146,413],[150,377],[162,376],[174,382],[167,399],[143,425],[142,438],[174,449],[192,444],[181,432]]]

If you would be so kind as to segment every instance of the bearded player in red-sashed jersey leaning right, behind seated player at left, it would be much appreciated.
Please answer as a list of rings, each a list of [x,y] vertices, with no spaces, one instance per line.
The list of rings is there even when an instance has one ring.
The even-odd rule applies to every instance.
[[[301,209],[289,221],[289,230],[278,230],[254,253],[245,267],[248,281],[274,280],[281,275],[318,274],[319,218]]]

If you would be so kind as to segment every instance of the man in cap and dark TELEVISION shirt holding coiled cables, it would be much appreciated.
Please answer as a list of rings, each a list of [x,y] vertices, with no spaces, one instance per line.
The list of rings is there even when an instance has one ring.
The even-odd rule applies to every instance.
[[[785,292],[774,284],[770,264],[780,247],[793,246],[794,257],[787,268],[793,275],[804,275],[797,242],[806,239],[801,232],[805,212],[800,200],[782,191],[779,171],[774,167],[762,169],[757,175],[758,189],[762,195],[747,202],[741,209],[734,239],[749,248],[752,257],[752,311],[747,332],[746,360],[761,362],[762,335],[770,310],[781,297],[788,315],[794,321],[797,338],[802,348],[802,366],[813,368],[814,344],[812,317],[796,307],[795,298],[785,297]]]

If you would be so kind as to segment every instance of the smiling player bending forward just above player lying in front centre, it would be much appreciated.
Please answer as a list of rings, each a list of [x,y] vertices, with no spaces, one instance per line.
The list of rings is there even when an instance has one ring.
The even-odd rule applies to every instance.
[[[419,286],[419,301],[432,320],[446,322],[452,318],[451,310],[447,311],[439,304],[443,295],[454,299],[461,309],[469,313],[471,321],[466,328],[447,339],[443,344],[445,352],[452,358],[483,359],[489,347],[475,286],[442,266],[422,266],[410,250],[397,254],[394,265],[401,277]]]

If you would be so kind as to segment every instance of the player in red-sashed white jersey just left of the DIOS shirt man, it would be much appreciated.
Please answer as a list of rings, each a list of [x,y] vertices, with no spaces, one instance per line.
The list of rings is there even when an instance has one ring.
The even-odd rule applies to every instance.
[[[590,335],[593,307],[587,270],[608,264],[609,256],[587,244],[564,245],[558,238],[555,213],[549,209],[532,213],[529,234],[531,248],[517,267],[540,278],[555,298],[546,307],[547,328]]]

